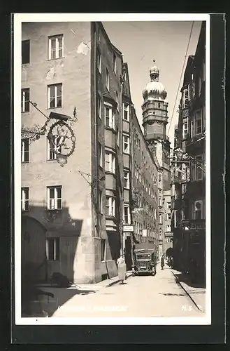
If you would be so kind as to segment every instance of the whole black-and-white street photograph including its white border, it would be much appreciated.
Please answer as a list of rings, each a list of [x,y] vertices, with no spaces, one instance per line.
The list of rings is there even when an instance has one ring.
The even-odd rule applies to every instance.
[[[210,324],[210,16],[16,13],[13,60],[15,324]]]

